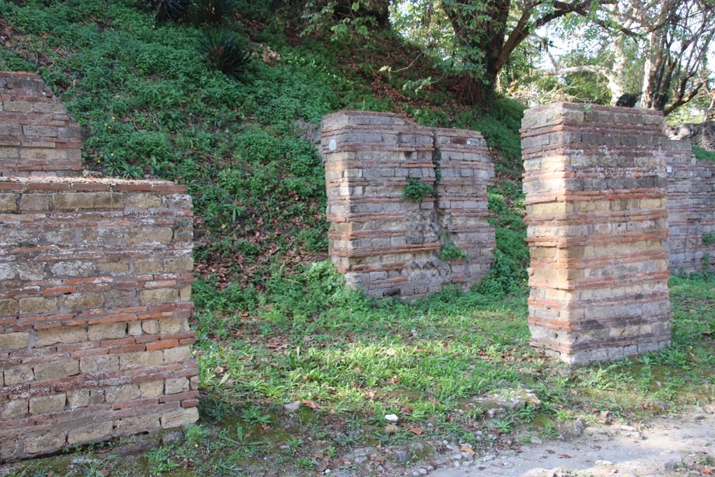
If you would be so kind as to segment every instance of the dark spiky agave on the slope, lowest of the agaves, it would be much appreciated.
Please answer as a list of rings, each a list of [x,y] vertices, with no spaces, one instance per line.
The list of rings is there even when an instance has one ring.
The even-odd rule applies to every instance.
[[[199,51],[206,57],[209,69],[223,72],[233,80],[240,79],[251,60],[251,54],[240,46],[237,34],[225,27],[205,29],[199,38]]]

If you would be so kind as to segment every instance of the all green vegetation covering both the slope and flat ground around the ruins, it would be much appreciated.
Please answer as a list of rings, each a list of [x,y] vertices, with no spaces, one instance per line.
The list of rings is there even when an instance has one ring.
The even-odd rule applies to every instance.
[[[225,31],[252,54],[207,68],[197,54],[204,27],[175,22],[194,2],[154,2],[167,9],[157,24],[138,0],[0,0],[0,69],[38,72],[59,94],[87,137],[86,167],[174,180],[194,197],[202,421],[184,443],[139,460],[97,458],[92,475],[315,475],[352,466],[341,459],[358,446],[379,445],[388,462],[413,441],[486,450],[523,426],[556,436],[568,416],[633,421],[713,398],[711,275],[672,280],[674,341],[659,353],[567,376],[528,347],[523,105],[498,99],[484,113],[455,102],[454,85],[421,82],[439,72],[389,32],[323,41],[267,21],[267,2],[232,3]],[[393,69],[380,71],[386,59]],[[375,302],[324,260],[325,179],[310,123],[342,108],[482,132],[497,172],[488,190],[497,250],[475,290]],[[431,192],[415,180],[405,197]],[[463,251],[446,248],[460,260]],[[541,408],[497,420],[465,408],[467,398],[518,387],[535,390]],[[388,413],[400,416],[397,428],[386,427]]]

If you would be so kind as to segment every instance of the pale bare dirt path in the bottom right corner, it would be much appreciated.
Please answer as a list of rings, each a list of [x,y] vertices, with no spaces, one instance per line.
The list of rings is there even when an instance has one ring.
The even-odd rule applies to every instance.
[[[715,475],[715,406],[677,418],[655,418],[641,428],[583,426],[564,441],[536,439],[517,451],[455,454],[430,477],[671,477]],[[459,457],[458,457],[459,456]]]

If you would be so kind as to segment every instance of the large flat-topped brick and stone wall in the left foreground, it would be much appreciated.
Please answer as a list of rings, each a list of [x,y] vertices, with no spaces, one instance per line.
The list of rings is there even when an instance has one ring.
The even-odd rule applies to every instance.
[[[186,187],[44,177],[74,169],[46,160],[0,177],[0,463],[198,418]]]

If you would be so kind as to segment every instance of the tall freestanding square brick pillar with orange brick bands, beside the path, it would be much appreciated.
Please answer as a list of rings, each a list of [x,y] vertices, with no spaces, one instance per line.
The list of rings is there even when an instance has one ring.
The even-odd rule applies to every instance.
[[[557,103],[522,129],[532,345],[567,363],[670,340],[660,112]]]

